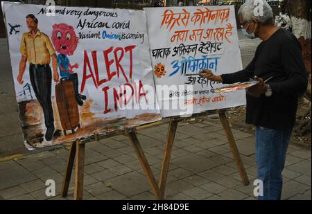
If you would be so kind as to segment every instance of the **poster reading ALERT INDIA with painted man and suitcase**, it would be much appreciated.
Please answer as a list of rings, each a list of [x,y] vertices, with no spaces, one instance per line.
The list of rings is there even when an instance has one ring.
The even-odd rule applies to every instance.
[[[2,8],[28,149],[161,119],[144,11]]]

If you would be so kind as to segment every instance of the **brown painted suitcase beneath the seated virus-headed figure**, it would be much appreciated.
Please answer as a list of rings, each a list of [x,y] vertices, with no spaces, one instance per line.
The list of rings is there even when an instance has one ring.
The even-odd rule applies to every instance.
[[[80,128],[80,118],[73,82],[62,78],[55,85],[55,98],[64,135],[67,135],[67,130],[74,133],[76,127]]]

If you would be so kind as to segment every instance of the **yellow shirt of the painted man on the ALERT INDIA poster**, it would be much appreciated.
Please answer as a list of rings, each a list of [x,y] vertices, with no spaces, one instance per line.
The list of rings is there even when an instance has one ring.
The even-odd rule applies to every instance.
[[[31,32],[23,34],[20,51],[33,64],[50,64],[51,55],[55,53],[49,37],[39,30],[35,37],[32,37]]]

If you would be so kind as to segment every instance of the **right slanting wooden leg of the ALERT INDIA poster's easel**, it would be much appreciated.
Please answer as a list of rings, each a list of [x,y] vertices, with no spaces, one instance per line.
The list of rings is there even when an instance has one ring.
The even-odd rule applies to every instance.
[[[141,166],[142,166],[146,176],[148,177],[148,181],[150,182],[150,186],[152,187],[152,190],[153,190],[153,193],[154,193],[156,199],[157,200],[163,199],[162,195],[159,192],[159,188],[157,187],[157,182],[155,180],[153,172],[150,169],[150,165],[148,164],[148,161],[144,155],[144,152],[141,148],[139,140],[137,139],[137,135],[135,134],[135,132],[128,132],[128,131],[126,131],[125,134],[128,135],[128,137],[132,143],[132,146],[135,149],[135,154],[137,154],[137,157],[141,163]]]

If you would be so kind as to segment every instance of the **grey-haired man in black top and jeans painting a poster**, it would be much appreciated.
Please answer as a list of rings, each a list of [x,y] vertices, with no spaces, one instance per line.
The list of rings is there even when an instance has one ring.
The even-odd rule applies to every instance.
[[[263,13],[257,14],[257,6]],[[261,200],[281,199],[286,151],[295,126],[298,97],[306,91],[307,76],[300,43],[288,30],[278,28],[272,8],[265,0],[250,0],[239,9],[246,37],[259,37],[254,58],[242,71],[215,75],[204,70],[200,76],[232,84],[250,78],[259,81],[247,90],[246,122],[256,126],[258,179],[263,181]],[[269,81],[270,80],[270,81]]]

